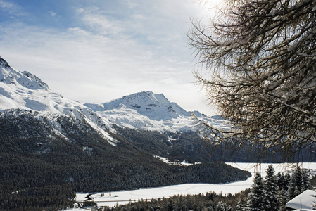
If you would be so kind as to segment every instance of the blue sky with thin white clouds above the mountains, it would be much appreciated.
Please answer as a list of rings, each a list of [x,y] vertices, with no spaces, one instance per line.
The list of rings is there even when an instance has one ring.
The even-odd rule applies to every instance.
[[[0,0],[0,56],[81,103],[153,91],[214,115],[187,38],[211,13],[198,0]]]

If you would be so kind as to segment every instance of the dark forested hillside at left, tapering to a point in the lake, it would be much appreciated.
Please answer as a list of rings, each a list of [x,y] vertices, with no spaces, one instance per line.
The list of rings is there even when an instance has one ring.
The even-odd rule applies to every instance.
[[[132,143],[120,133],[112,134],[117,141],[114,146],[84,120],[67,115],[56,120],[59,131],[67,136],[34,111],[6,111],[0,116],[0,210],[58,210],[72,205],[76,191],[222,183],[250,177],[222,162],[167,165],[134,144],[135,137]]]

